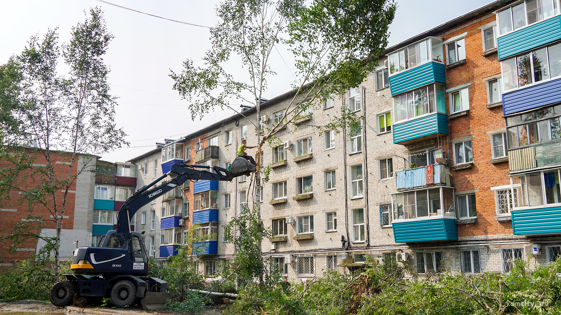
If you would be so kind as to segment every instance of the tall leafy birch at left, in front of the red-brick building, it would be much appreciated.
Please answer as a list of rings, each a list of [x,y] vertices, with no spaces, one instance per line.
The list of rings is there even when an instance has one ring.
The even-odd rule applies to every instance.
[[[56,275],[70,188],[81,174],[95,171],[95,155],[126,144],[125,133],[114,123],[116,98],[109,94],[109,68],[103,61],[112,38],[97,7],[90,9],[85,21],[72,27],[70,42],[62,48],[56,29],[49,29],[42,40],[33,36],[17,57],[21,91],[16,101],[4,98],[13,95],[0,94],[0,104],[23,104],[12,106],[19,110],[10,112],[20,129],[19,134],[2,142],[2,158],[10,165],[0,170],[0,180],[12,191],[22,192],[19,202],[29,205],[30,211],[47,209],[56,230],[54,237],[41,235],[38,228],[46,224],[36,226],[30,221],[48,219],[33,218],[16,224],[7,238],[13,241],[12,248],[29,238],[45,240],[54,251]],[[60,57],[69,68],[67,76],[57,73]],[[22,148],[26,144],[22,138],[30,141],[27,143],[32,143],[33,149]],[[55,151],[64,159],[62,172],[60,166],[55,167],[61,164],[53,158]],[[34,163],[38,159],[42,164]],[[38,184],[22,186],[22,177],[33,177]],[[5,199],[7,194],[1,197]]]

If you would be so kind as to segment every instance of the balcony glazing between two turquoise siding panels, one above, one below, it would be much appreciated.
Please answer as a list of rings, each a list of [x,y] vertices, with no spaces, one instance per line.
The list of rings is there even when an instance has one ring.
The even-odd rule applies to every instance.
[[[445,113],[444,87],[431,84],[393,97],[394,124],[429,113]]]

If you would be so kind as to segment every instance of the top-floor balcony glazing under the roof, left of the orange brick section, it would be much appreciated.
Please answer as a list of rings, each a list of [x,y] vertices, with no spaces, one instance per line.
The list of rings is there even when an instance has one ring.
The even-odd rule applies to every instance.
[[[397,52],[390,53],[388,59],[390,75],[429,61],[443,62],[442,40],[437,38],[421,40]]]

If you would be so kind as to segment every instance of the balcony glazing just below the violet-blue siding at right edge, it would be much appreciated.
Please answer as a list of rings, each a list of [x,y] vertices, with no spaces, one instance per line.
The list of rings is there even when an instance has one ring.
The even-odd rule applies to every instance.
[[[560,139],[559,114],[561,114],[561,105],[507,117],[509,149]]]

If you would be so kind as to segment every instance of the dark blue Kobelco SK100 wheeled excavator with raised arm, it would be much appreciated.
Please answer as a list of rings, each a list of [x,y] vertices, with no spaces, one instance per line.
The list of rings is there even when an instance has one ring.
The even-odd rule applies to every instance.
[[[128,307],[137,303],[144,309],[160,309],[171,298],[167,293],[167,282],[149,277],[146,247],[142,235],[131,231],[131,217],[142,206],[187,180],[228,180],[255,171],[255,166],[246,159],[236,158],[231,168],[206,165],[174,164],[169,173],[140,188],[123,204],[117,214],[117,230],[110,230],[99,241],[97,247],[79,247],[73,252],[71,275],[62,275],[65,280],[54,282],[49,291],[53,305],[64,307],[76,301],[96,304],[102,298],[111,298],[117,307]],[[175,176],[154,188],[160,180]]]

